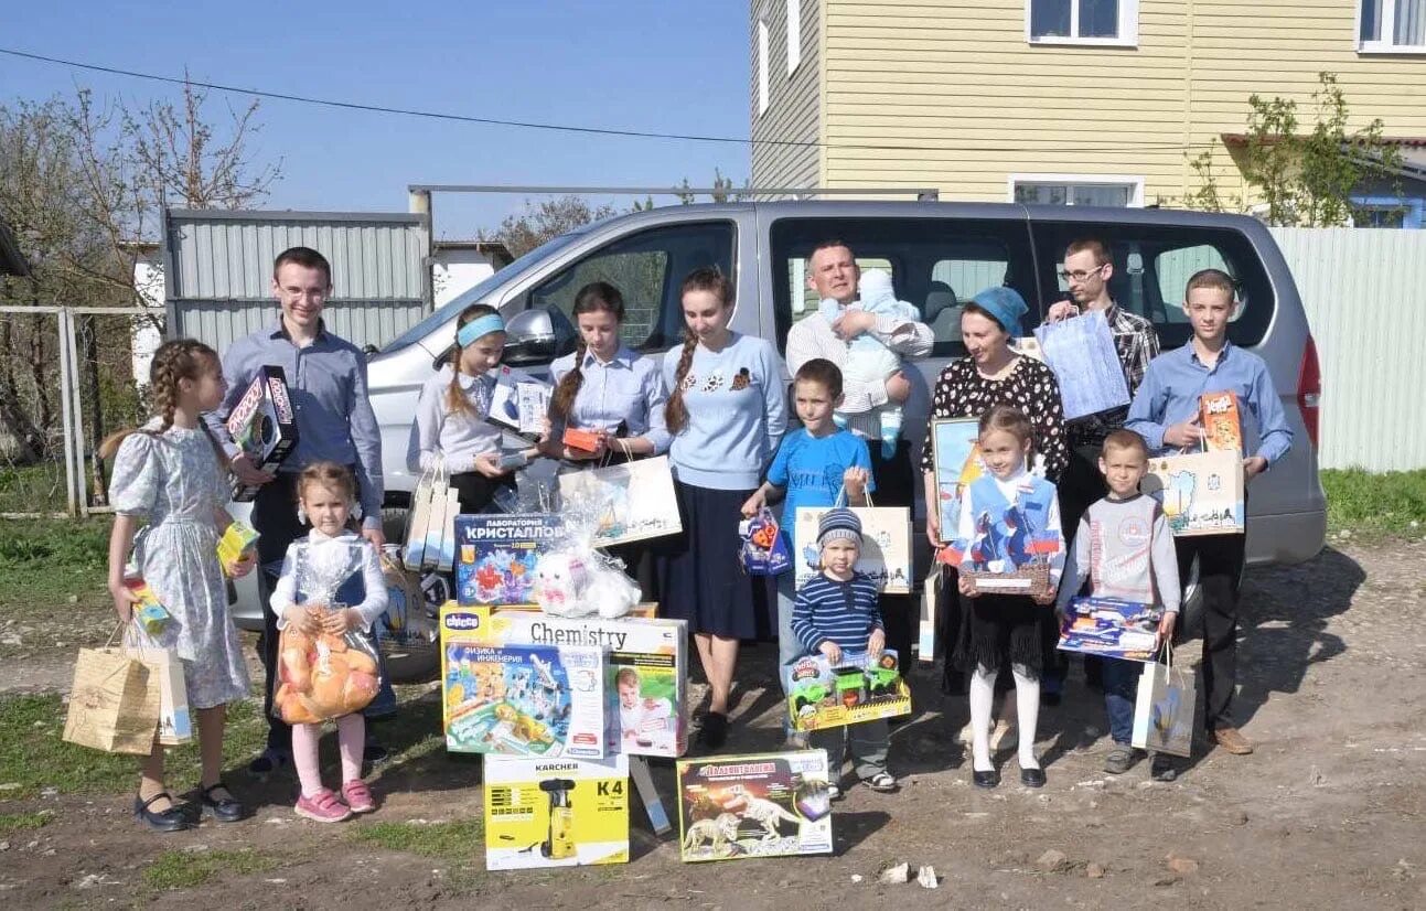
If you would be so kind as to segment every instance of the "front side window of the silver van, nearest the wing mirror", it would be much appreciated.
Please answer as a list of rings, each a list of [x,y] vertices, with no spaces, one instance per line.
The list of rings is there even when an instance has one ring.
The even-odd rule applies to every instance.
[[[736,278],[733,222],[684,222],[622,237],[530,288],[526,308],[556,308],[573,325],[575,295],[592,281],[606,281],[625,299],[620,341],[635,351],[663,351],[683,331],[683,277],[707,265]]]

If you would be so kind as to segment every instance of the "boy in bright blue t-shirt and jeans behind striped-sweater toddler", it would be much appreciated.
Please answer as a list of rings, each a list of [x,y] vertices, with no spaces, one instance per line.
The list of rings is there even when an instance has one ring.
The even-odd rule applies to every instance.
[[[847,490],[848,506],[866,506],[867,492],[876,489],[871,480],[871,453],[867,443],[850,431],[840,431],[833,412],[841,405],[841,371],[831,361],[814,358],[801,365],[793,378],[793,399],[803,426],[783,436],[767,480],[743,503],[743,515],[754,516],[767,505],[767,498],[786,492],[783,500],[781,535],[787,552],[793,552],[791,527],[799,506],[836,506],[841,489]],[[794,663],[801,646],[793,636],[793,603],[796,600],[796,572],[777,577],[777,671]],[[786,684],[784,684],[786,686]],[[807,736],[791,730],[784,721],[787,747],[807,748]]]

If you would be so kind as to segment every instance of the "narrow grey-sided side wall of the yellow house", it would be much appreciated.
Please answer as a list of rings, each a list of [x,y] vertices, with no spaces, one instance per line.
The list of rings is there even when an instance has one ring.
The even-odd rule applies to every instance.
[[[820,182],[820,157],[816,145],[763,145],[767,140],[816,143],[821,135],[819,111],[820,88],[820,0],[799,0],[801,13],[801,63],[787,73],[786,0],[753,0],[752,9],[752,80],[753,114],[753,185],[816,187]],[[767,24],[767,111],[757,113],[757,23]]]

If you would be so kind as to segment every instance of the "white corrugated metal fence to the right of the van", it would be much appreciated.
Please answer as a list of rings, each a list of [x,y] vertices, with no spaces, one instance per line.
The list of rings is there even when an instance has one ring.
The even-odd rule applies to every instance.
[[[1426,468],[1426,231],[1272,228],[1322,365],[1322,468]]]

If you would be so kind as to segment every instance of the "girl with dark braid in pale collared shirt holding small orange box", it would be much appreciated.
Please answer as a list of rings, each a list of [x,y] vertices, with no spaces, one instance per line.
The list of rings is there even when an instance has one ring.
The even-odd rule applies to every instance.
[[[579,346],[549,368],[558,385],[549,403],[545,455],[562,459],[560,472],[576,472],[666,452],[669,432],[663,426],[663,408],[667,395],[662,365],[619,339],[623,295],[607,282],[590,282],[575,295],[573,315]],[[597,436],[595,449],[566,446],[562,441],[568,428],[592,431]],[[636,542],[609,552],[625,562],[645,597],[656,597],[646,545]]]

